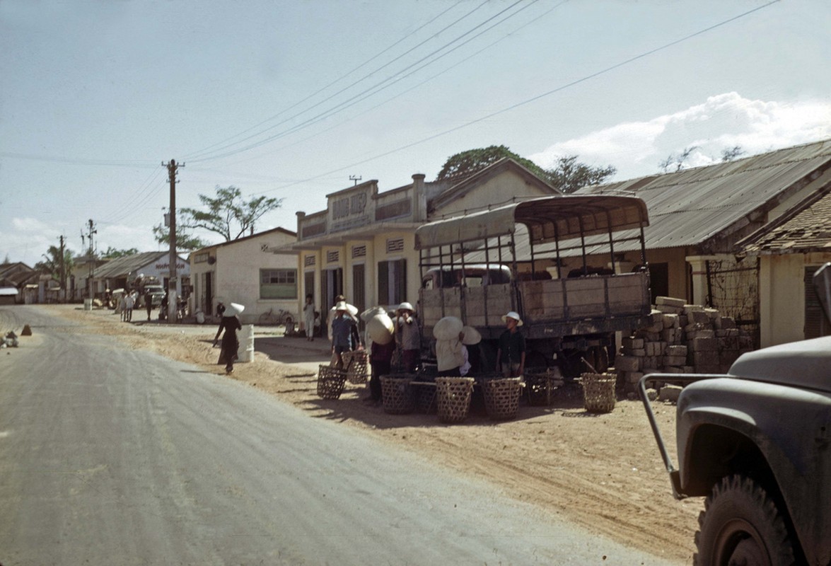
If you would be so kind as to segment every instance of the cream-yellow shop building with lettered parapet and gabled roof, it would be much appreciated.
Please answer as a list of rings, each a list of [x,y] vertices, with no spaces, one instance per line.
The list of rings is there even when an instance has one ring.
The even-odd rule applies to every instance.
[[[378,181],[327,194],[327,208],[297,212],[297,240],[274,253],[297,253],[301,273],[297,310],[307,294],[326,313],[342,294],[359,309],[415,304],[420,288],[415,232],[421,224],[506,204],[558,194],[514,160],[499,160],[458,181],[412,183],[379,192]],[[325,317],[324,317],[325,319]]]

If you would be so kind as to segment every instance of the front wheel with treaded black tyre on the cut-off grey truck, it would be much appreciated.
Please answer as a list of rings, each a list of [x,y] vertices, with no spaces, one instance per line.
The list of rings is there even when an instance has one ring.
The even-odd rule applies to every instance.
[[[782,514],[754,480],[730,475],[715,485],[698,516],[696,566],[789,566],[794,547]]]

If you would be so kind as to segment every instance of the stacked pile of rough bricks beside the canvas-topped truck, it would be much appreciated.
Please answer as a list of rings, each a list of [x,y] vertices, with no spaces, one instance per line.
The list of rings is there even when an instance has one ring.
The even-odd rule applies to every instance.
[[[618,383],[633,391],[647,373],[725,373],[753,341],[715,308],[657,297],[652,324],[624,337],[615,358]]]

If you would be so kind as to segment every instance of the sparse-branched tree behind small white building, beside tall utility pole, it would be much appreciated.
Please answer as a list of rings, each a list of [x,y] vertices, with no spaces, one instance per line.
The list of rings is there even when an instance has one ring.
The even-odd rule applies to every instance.
[[[242,191],[233,185],[227,188],[217,186],[215,198],[199,194],[199,200],[207,210],[181,209],[183,228],[208,230],[221,235],[226,242],[241,238],[253,230],[254,224],[263,214],[278,209],[283,204],[283,199],[267,199],[264,196],[245,202]],[[176,243],[178,248],[178,231]]]

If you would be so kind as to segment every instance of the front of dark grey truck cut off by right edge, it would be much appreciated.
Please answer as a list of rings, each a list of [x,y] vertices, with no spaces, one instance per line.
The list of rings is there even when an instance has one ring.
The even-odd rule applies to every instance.
[[[826,316],[831,263],[814,275]],[[739,357],[724,375],[649,374],[638,385],[676,499],[706,497],[695,564],[831,564],[831,337]],[[646,386],[684,385],[678,467]]]

